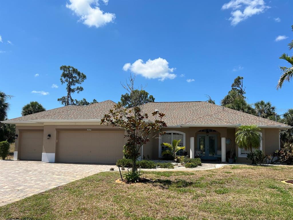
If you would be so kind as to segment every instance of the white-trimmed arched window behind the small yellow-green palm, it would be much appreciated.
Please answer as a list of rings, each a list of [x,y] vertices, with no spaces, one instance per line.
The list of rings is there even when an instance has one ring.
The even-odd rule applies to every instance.
[[[162,157],[162,153],[164,150],[168,148],[166,146],[161,146],[162,143],[170,143],[172,144],[173,140],[181,140],[178,146],[185,146],[185,133],[181,131],[166,131],[165,134],[159,135],[159,157]],[[178,155],[182,155],[183,150],[178,151]]]

